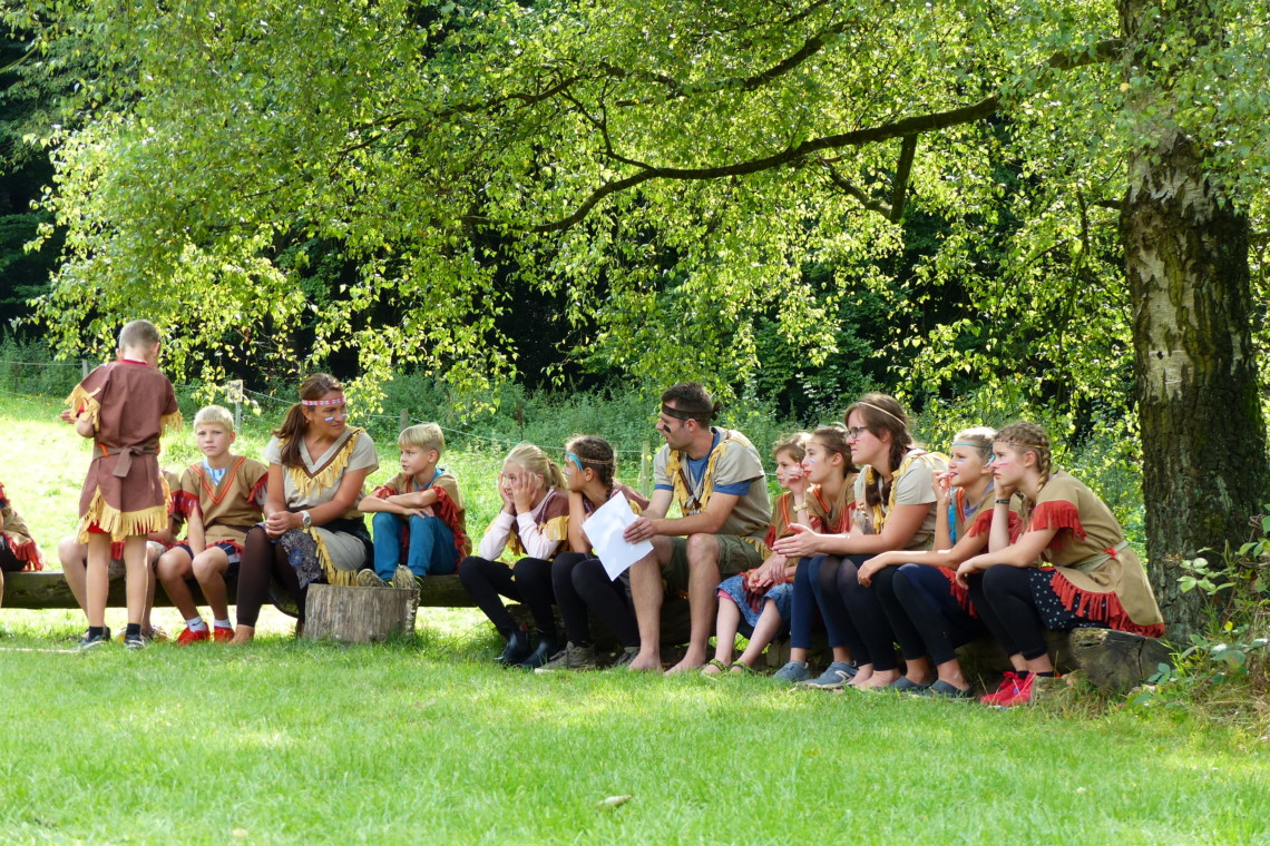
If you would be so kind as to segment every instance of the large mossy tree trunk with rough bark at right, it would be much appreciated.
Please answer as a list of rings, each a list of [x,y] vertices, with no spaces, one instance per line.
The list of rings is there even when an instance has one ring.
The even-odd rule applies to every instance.
[[[1132,75],[1151,66],[1161,10],[1143,0],[1119,5]],[[1203,1],[1181,6],[1171,14],[1198,24],[1208,15]],[[1181,561],[1205,549],[1215,561],[1248,539],[1248,517],[1265,495],[1266,438],[1250,330],[1248,221],[1172,122],[1167,80],[1153,88],[1149,100],[1130,104],[1149,141],[1129,155],[1120,233],[1133,297],[1147,557],[1176,642],[1203,625],[1205,599],[1180,592]]]

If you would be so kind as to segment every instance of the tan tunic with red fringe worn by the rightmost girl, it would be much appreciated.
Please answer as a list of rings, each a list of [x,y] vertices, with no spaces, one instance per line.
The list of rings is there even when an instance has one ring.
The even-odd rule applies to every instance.
[[[1147,572],[1111,509],[1069,473],[1055,471],[1025,512],[1027,530],[1058,529],[1033,572],[1045,628],[1111,628],[1158,638],[1163,618]]]

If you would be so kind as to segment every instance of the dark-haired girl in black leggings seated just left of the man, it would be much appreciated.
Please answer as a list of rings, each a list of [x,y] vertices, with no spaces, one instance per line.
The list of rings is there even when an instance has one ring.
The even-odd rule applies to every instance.
[[[588,616],[594,614],[622,646],[618,666],[630,663],[639,653],[639,625],[631,606],[622,573],[610,578],[587,538],[585,523],[591,514],[615,496],[626,500],[630,510],[641,514],[648,498],[615,478],[616,455],[603,438],[582,435],[565,445],[564,478],[569,491],[569,552],[551,562],[551,590],[568,642],[536,672],[556,670],[594,670],[596,648],[591,638]]]

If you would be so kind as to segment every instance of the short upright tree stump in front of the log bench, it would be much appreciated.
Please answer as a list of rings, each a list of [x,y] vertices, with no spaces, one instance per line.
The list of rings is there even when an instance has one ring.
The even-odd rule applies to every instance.
[[[305,638],[343,643],[384,641],[414,632],[419,591],[314,583],[305,602]]]

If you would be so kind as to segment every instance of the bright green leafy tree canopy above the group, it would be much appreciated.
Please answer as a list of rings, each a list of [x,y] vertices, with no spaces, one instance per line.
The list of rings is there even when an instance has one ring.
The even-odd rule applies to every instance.
[[[1217,5],[1232,25],[1171,79],[1171,117],[1252,205],[1266,9]],[[545,334],[653,379],[743,382],[756,315],[815,365],[870,290],[875,345],[919,348],[918,386],[1106,386],[1129,345],[1126,104],[1181,53],[1125,77],[1105,3],[30,3],[10,23],[32,62],[94,57],[46,138],[62,342],[149,313],[215,375],[311,325],[315,356],[457,383],[514,367],[512,275],[561,296]],[[939,240],[897,277],[914,214]],[[330,249],[356,275],[319,296],[301,279]]]

